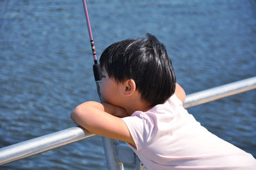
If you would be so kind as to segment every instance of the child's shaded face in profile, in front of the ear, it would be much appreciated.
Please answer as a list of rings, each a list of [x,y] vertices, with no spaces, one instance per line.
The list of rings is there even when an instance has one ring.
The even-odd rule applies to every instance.
[[[110,78],[106,69],[102,69],[102,80],[100,81],[100,95],[102,102],[109,104],[118,105],[120,100],[121,84],[117,83],[115,79]]]

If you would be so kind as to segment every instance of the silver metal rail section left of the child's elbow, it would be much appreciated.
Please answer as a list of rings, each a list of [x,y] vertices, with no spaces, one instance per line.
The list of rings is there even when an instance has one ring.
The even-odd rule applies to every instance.
[[[94,136],[80,127],[67,128],[52,134],[36,137],[22,143],[12,144],[0,149],[0,166],[31,157],[44,151],[75,143]]]

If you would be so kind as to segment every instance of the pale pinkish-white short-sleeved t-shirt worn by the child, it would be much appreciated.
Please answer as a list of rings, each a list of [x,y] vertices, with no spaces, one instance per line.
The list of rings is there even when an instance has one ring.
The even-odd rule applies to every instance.
[[[122,119],[146,169],[256,169],[252,155],[202,127],[176,95]]]

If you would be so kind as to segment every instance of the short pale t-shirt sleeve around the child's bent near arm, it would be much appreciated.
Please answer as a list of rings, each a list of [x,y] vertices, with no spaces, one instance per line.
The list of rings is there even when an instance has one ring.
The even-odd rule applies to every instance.
[[[147,139],[146,135],[148,130],[145,126],[145,120],[137,116],[128,116],[122,119],[124,120],[132,135],[132,139],[136,144],[136,150],[141,150],[142,147],[145,146],[145,139]]]

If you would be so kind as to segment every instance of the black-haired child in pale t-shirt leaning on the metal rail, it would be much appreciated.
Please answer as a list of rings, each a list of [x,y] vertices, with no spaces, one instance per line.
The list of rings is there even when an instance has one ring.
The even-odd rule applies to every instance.
[[[146,169],[253,169],[252,155],[211,134],[182,107],[166,49],[153,35],[110,45],[100,57],[102,103],[71,118],[89,132],[125,141]]]

